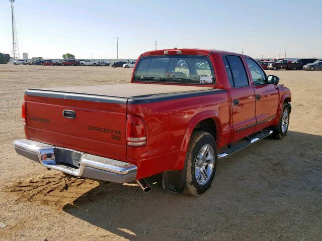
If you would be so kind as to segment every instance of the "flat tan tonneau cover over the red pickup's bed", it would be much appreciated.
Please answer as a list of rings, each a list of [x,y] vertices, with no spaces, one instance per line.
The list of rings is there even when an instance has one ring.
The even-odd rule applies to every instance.
[[[127,83],[114,85],[70,86],[37,89],[33,88],[32,90],[135,98],[148,95],[182,93],[209,89],[213,89],[213,87]]]

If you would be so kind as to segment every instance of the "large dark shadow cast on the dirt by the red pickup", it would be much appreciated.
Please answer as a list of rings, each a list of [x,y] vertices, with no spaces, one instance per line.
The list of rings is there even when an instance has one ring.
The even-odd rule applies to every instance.
[[[157,175],[146,179],[149,193],[134,183],[103,184],[63,211],[102,228],[98,236],[107,230],[130,240],[238,239],[232,228],[244,230],[246,239],[261,239],[259,228],[295,237],[297,227],[306,228],[288,217],[291,210],[300,220],[310,203],[322,203],[321,143],[322,136],[291,131],[282,140],[267,138],[219,161],[212,187],[199,197],[163,190]]]

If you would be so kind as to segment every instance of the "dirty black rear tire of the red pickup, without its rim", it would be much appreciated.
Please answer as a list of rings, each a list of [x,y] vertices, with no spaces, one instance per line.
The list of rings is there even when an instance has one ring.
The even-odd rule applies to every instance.
[[[214,151],[213,168],[208,181],[205,184],[200,185],[195,176],[196,160],[202,147],[207,144],[209,144]],[[217,146],[212,135],[204,131],[194,131],[192,133],[186,157],[186,165],[186,184],[184,193],[189,196],[198,196],[204,193],[212,183],[217,166]]]

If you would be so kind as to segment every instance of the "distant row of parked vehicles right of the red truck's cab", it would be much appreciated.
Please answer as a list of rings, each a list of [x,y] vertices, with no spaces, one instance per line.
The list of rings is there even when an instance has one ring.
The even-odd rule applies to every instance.
[[[258,60],[258,63],[265,70],[322,70],[322,59],[272,59],[272,60]]]

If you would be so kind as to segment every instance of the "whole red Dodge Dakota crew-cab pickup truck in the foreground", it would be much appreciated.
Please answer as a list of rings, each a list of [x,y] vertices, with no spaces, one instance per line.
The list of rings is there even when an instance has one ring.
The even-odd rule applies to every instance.
[[[178,64],[181,63],[181,64]],[[237,53],[143,53],[131,83],[25,91],[18,154],[65,174],[126,183],[163,173],[163,187],[199,195],[225,158],[286,135],[290,90]]]

